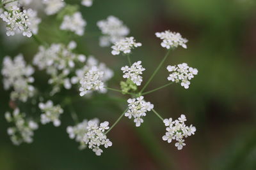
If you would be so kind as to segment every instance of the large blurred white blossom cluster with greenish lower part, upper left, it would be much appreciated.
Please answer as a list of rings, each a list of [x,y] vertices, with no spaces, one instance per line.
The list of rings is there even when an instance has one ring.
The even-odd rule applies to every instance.
[[[60,91],[60,86],[70,89],[72,84],[68,75],[76,67],[77,62],[84,63],[86,57],[81,54],[73,53],[76,42],[70,41],[68,46],[63,44],[52,44],[49,48],[39,47],[39,52],[33,59],[33,64],[40,70],[46,69],[47,74],[51,75],[49,84],[54,85],[52,93]]]

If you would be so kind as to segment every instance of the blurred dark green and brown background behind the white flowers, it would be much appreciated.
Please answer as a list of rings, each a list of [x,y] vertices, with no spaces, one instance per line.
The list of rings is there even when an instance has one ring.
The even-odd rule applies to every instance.
[[[142,60],[147,69],[144,81],[166,52],[154,33],[168,29],[180,32],[189,39],[188,49],[175,50],[147,89],[167,83],[165,67],[169,64],[187,62],[198,68],[198,76],[188,90],[172,85],[145,97],[164,118],[177,118],[184,113],[187,124],[195,125],[197,131],[186,139],[187,146],[178,151],[174,143],[161,139],[165,128],[154,113],[148,113],[141,127],[134,127],[132,120],[125,117],[108,134],[113,146],[97,157],[91,150],[78,150],[79,144],[68,138],[66,127],[74,122],[66,111],[61,127],[41,125],[31,145],[14,146],[6,134],[10,124],[4,120],[4,112],[11,110],[10,92],[4,91],[1,83],[0,169],[256,169],[255,3],[253,0],[95,0],[91,8],[80,6],[88,22],[81,38],[59,31],[61,21],[40,13],[40,38],[48,43],[75,39],[77,52],[94,55],[115,71],[109,87],[116,88],[122,80],[120,67],[127,61],[122,56],[112,56],[110,48],[99,47],[98,20],[109,15],[120,18],[131,29],[129,35],[143,43],[134,50],[131,59]],[[33,39],[6,38],[4,31],[1,34],[0,62],[5,55],[14,57],[18,53],[31,62],[37,50]],[[36,86],[44,90],[45,73],[38,72],[35,78]],[[76,89],[63,90],[52,99],[61,103],[67,96],[78,95]],[[116,97],[123,96],[115,92],[95,94],[91,99],[81,97],[73,104],[80,121],[99,117],[113,124],[125,107],[125,102]]]

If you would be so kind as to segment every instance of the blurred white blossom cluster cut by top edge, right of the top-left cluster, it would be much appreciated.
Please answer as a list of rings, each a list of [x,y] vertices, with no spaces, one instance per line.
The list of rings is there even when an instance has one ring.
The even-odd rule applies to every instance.
[[[63,0],[42,0],[45,4],[45,13],[47,15],[54,15],[58,13],[66,4]]]

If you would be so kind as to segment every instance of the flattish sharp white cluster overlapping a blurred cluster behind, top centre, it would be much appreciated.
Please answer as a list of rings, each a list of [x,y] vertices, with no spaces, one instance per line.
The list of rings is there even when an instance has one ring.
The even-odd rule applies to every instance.
[[[113,55],[118,55],[120,52],[131,53],[131,50],[138,46],[141,46],[141,43],[136,43],[133,37],[120,39],[120,41],[117,41],[115,45],[111,46],[113,49],[111,53]]]

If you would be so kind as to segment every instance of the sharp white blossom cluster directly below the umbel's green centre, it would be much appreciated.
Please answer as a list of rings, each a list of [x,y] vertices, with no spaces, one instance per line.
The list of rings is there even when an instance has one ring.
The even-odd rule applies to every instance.
[[[154,104],[144,101],[143,96],[137,97],[136,99],[128,99],[127,102],[129,104],[125,117],[133,117],[136,127],[139,127],[143,123],[142,117],[145,117],[147,111],[151,111],[154,108]]]

